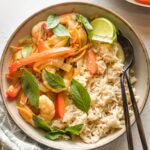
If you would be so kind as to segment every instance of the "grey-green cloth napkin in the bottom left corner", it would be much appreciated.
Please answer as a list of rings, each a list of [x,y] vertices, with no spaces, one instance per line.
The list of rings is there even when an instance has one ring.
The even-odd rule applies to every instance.
[[[18,128],[0,98],[0,142],[2,150],[52,150],[38,144]]]

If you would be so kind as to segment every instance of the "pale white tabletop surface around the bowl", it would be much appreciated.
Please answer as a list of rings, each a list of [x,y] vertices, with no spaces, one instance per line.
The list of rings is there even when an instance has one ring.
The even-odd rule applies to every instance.
[[[34,12],[64,0],[0,0],[0,56],[12,32]],[[65,0],[67,1],[67,0]],[[150,55],[150,8],[134,6],[124,0],[88,0],[114,10],[123,16],[141,36]],[[141,114],[147,142],[150,147],[150,97]],[[136,125],[132,127],[135,150],[141,150]],[[127,150],[126,136],[98,150]]]

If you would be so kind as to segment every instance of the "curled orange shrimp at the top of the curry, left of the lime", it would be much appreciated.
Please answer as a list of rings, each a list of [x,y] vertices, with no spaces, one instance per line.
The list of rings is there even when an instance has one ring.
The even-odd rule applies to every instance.
[[[84,46],[87,43],[87,34],[80,23],[76,21],[76,14],[69,13],[60,16],[60,23],[68,27],[71,45]]]

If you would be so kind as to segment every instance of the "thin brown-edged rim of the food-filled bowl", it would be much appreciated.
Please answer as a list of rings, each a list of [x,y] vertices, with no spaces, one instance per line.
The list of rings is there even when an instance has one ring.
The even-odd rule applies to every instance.
[[[147,77],[147,88],[146,88],[146,93],[144,95],[144,98],[143,98],[143,107],[140,111],[140,114],[142,113],[144,107],[145,107],[145,104],[148,100],[148,96],[149,96],[149,91],[150,91],[150,59],[149,59],[149,55],[148,55],[148,51],[144,45],[144,42],[142,41],[141,37],[139,36],[139,34],[137,34],[135,31],[135,29],[133,28],[133,26],[128,22],[126,21],[123,17],[121,17],[120,15],[118,15],[116,12],[114,12],[113,10],[110,10],[108,8],[105,8],[105,7],[102,7],[100,6],[100,4],[97,4],[96,2],[93,4],[92,2],[84,2],[84,1],[71,1],[71,2],[58,2],[56,4],[52,4],[52,5],[49,5],[45,8],[42,8],[38,11],[36,11],[35,13],[33,13],[32,15],[30,15],[29,17],[27,17],[24,21],[22,21],[22,23],[19,24],[19,26],[17,26],[17,28],[14,30],[13,33],[11,33],[11,36],[9,37],[9,40],[7,41],[5,47],[4,47],[4,50],[3,50],[3,53],[1,55],[1,60],[0,60],[0,76],[2,76],[2,69],[3,69],[3,63],[4,63],[4,57],[5,57],[5,54],[7,52],[7,49],[12,41],[12,39],[15,37],[15,35],[21,30],[21,28],[30,20],[32,20],[32,18],[34,18],[36,15],[40,14],[40,13],[43,13],[44,11],[46,11],[47,9],[51,9],[51,8],[54,8],[54,7],[58,7],[58,6],[66,6],[66,5],[70,5],[70,4],[81,4],[81,5],[89,5],[89,6],[93,6],[93,7],[97,7],[97,8],[100,8],[112,15],[114,15],[115,17],[117,17],[118,19],[120,19],[126,26],[129,27],[129,29],[131,30],[131,32],[135,35],[135,37],[137,38],[138,42],[140,43],[141,47],[142,47],[142,51],[145,55],[145,58],[146,58],[146,64],[147,64],[147,72],[148,72],[148,77]],[[30,137],[31,139],[35,140],[36,142],[40,143],[40,144],[43,144],[47,147],[50,147],[49,145],[46,145],[44,144],[43,142],[41,142],[40,140],[38,140],[36,137],[34,137],[32,134],[30,133],[27,133],[24,128],[22,128],[22,126],[13,118],[11,112],[7,109],[7,104],[5,102],[5,94],[4,94],[4,89],[3,89],[3,86],[2,86],[2,78],[0,79],[0,94],[1,94],[1,97],[2,97],[2,101],[6,107],[6,110],[9,114],[9,116],[12,118],[12,120],[14,121],[14,123],[21,129],[21,131],[23,131],[26,136]],[[133,124],[135,123],[135,118],[133,119],[133,121],[131,122],[131,126],[133,126]],[[125,134],[125,129],[124,131],[119,135],[117,136],[116,138],[112,138],[110,141],[108,141],[107,143],[104,143],[104,145],[101,145],[101,146],[96,146],[96,147],[93,147],[93,148],[86,148],[87,149],[95,149],[95,148],[98,148],[98,147],[104,147],[112,142],[114,142],[115,140],[117,140],[119,137],[121,137],[123,134]],[[51,148],[55,148],[55,147],[51,147]],[[57,147],[55,149],[61,149],[63,150],[63,148],[60,148],[60,147]]]

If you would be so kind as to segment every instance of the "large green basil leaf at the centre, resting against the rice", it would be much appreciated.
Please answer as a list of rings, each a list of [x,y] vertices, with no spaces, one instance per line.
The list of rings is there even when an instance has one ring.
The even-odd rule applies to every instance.
[[[90,95],[86,88],[74,79],[71,81],[70,96],[80,110],[88,113],[91,101]]]

